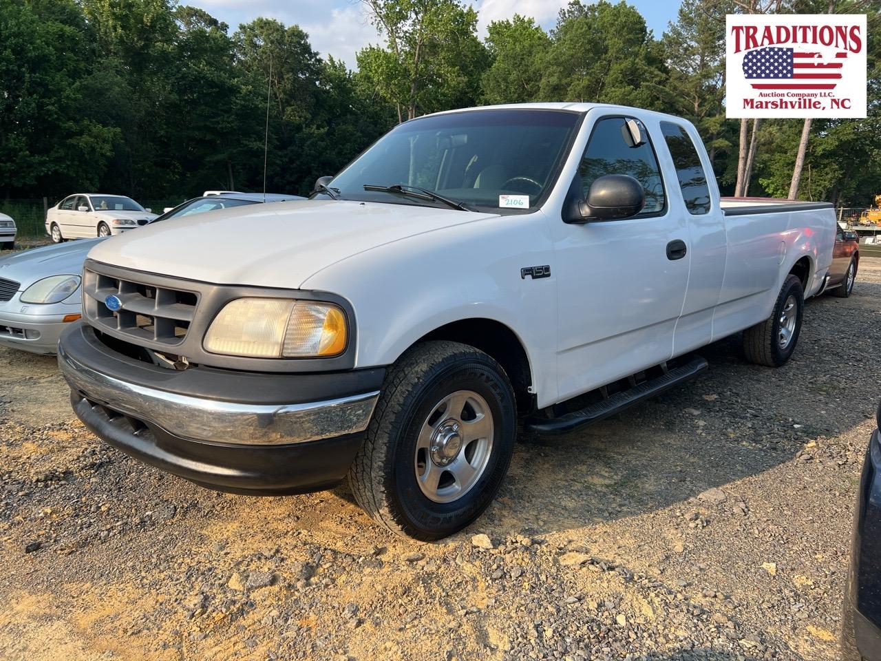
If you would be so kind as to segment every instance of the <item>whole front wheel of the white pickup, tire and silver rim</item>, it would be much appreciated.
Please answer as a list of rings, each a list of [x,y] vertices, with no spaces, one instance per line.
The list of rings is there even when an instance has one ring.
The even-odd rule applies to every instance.
[[[447,537],[499,491],[515,429],[514,392],[499,363],[457,342],[417,345],[389,369],[349,472],[352,493],[396,534]]]

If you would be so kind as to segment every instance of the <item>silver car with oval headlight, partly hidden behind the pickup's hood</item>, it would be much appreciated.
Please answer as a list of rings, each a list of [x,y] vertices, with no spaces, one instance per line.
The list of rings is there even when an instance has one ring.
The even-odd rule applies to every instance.
[[[298,199],[304,198],[245,193],[196,197],[152,222],[243,204]],[[0,345],[56,353],[64,324],[77,321],[82,312],[79,274],[85,256],[96,243],[107,240],[109,237],[59,243],[0,259]]]

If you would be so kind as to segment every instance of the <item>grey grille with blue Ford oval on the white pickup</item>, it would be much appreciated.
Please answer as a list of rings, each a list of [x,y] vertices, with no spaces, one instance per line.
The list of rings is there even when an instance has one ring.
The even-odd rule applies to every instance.
[[[198,293],[151,285],[138,275],[117,277],[87,266],[83,281],[85,316],[96,328],[117,331],[136,344],[138,339],[181,344],[196,316]],[[118,309],[107,307],[111,296],[118,299]]]

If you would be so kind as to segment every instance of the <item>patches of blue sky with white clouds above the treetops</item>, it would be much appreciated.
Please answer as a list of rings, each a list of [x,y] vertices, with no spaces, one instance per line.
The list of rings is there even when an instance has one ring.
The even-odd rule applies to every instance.
[[[478,9],[481,36],[492,20],[507,19],[515,13],[531,16],[545,28],[554,25],[557,12],[567,0],[466,0]],[[298,24],[307,33],[312,47],[323,55],[342,59],[355,66],[355,53],[368,43],[379,41],[374,26],[367,22],[359,0],[181,0],[181,4],[202,7],[212,16],[226,21],[230,30],[240,23],[266,16],[290,25]],[[646,18],[648,27],[660,36],[668,21],[676,18],[679,0],[630,0]]]

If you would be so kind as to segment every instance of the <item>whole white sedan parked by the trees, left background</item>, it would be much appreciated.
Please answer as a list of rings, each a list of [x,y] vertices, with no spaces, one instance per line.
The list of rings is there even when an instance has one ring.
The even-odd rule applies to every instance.
[[[46,233],[53,243],[111,236],[146,225],[156,216],[131,197],[77,193],[48,210]]]

